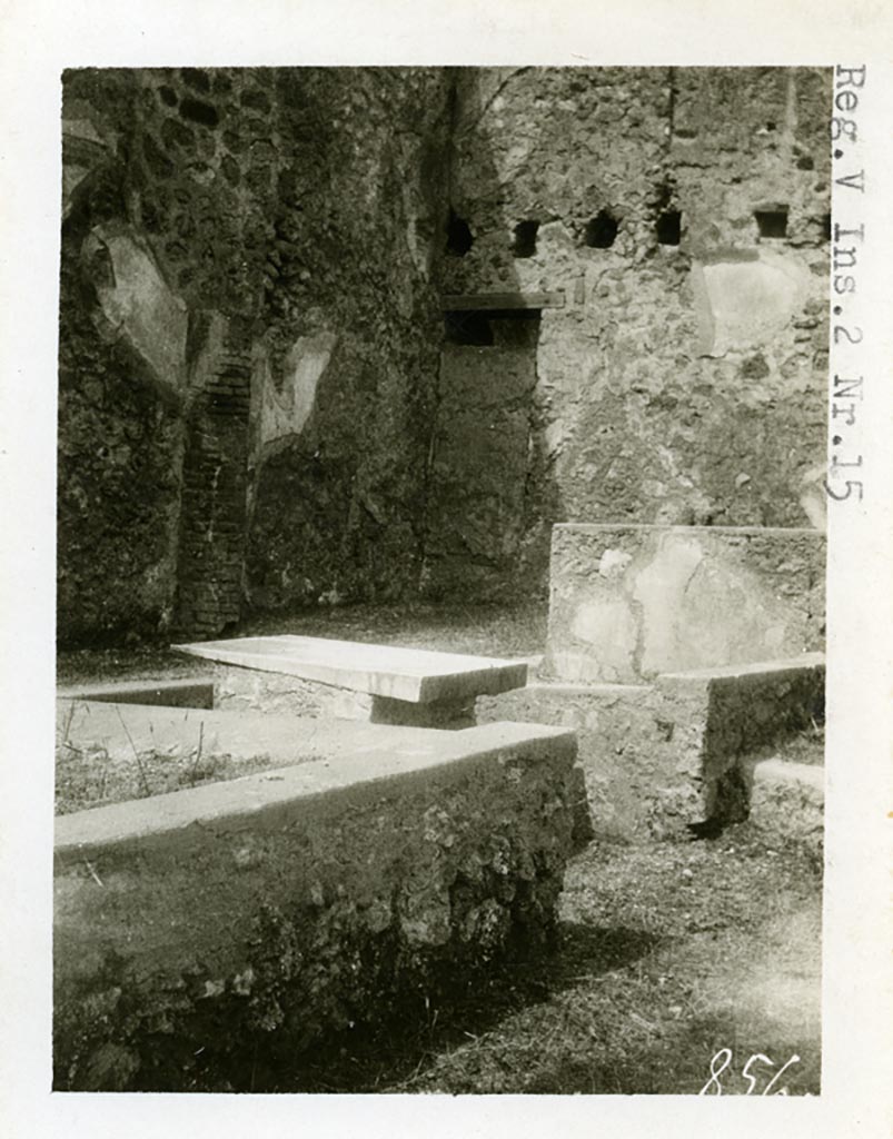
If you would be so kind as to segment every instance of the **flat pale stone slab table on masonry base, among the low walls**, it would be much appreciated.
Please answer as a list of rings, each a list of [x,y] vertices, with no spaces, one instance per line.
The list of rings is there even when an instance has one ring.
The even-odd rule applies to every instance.
[[[526,661],[319,637],[241,637],[173,645],[214,664],[221,708],[421,728],[474,724],[478,696],[523,688]]]

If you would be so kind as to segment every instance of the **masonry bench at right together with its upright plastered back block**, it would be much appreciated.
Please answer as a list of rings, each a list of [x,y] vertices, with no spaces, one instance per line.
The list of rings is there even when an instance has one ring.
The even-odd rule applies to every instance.
[[[600,837],[740,819],[752,762],[824,718],[825,555],[802,528],[556,525],[544,657],[477,720],[575,729]]]

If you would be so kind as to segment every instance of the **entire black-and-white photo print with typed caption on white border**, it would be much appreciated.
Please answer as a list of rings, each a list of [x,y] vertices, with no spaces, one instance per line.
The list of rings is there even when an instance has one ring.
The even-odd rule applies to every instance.
[[[300,28],[41,79],[21,1133],[879,1136],[890,69]]]

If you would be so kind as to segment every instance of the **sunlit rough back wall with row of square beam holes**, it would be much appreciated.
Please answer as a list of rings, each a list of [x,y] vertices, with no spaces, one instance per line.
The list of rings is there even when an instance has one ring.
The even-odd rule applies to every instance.
[[[820,68],[464,73],[444,293],[565,295],[529,407],[549,522],[821,525],[829,101]]]

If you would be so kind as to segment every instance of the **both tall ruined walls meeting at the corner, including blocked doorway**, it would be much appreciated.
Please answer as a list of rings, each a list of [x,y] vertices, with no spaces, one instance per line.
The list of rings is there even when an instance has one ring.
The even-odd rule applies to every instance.
[[[562,521],[821,525],[825,71],[63,85],[63,644],[544,596]]]

